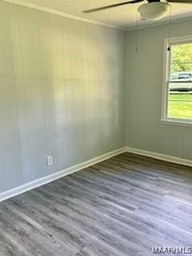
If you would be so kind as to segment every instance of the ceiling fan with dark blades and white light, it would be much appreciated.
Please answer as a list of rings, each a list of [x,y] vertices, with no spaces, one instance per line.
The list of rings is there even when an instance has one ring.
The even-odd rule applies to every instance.
[[[168,10],[170,9],[170,4],[169,3],[191,3],[192,0],[166,0],[161,1],[161,0],[130,0],[127,2],[120,2],[114,5],[110,6],[103,6],[99,8],[94,8],[90,10],[84,10],[83,13],[89,14],[98,10],[106,10],[118,6],[126,6],[128,4],[134,4],[138,2],[144,2],[142,6],[138,7],[138,12],[141,14],[142,18],[144,19],[149,19],[149,20],[158,20],[160,18],[163,18],[166,16]]]

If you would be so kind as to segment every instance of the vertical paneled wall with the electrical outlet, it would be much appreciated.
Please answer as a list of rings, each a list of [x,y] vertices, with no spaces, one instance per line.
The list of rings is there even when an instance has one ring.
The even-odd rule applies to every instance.
[[[0,31],[0,192],[124,146],[122,31],[2,0]]]

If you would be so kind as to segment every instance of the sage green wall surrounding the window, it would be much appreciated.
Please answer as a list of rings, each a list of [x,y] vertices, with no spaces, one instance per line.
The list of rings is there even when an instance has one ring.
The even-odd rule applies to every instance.
[[[192,34],[192,21],[174,23],[171,36]],[[192,160],[192,127],[162,124],[163,40],[168,26],[136,31],[126,37],[126,146]]]

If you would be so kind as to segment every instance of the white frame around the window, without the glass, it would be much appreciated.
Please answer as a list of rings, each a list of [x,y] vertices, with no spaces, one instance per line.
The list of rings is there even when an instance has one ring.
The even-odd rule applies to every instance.
[[[163,80],[162,80],[162,118],[161,122],[165,124],[174,124],[181,126],[191,126],[192,120],[184,118],[168,118],[168,97],[169,97],[169,79],[170,79],[170,51],[168,47],[171,45],[192,43],[192,35],[182,36],[178,38],[166,38],[164,40],[164,56],[163,56]]]

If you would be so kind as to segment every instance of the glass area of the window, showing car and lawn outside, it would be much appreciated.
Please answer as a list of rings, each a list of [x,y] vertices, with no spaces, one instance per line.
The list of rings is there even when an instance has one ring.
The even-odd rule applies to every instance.
[[[192,121],[192,42],[171,46],[168,118]]]

